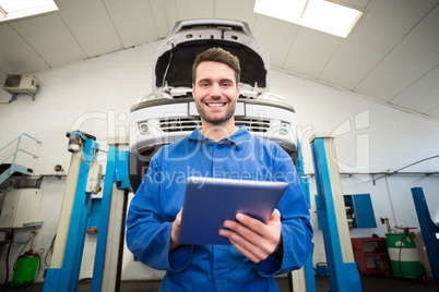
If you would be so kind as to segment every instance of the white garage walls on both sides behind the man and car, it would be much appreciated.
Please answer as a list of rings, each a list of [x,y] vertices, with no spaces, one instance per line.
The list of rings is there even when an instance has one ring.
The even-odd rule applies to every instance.
[[[21,133],[40,139],[41,145],[29,146],[38,159],[23,157],[23,163],[35,174],[54,174],[54,166],[61,165],[64,174],[70,163],[66,133],[81,130],[93,134],[103,149],[107,137],[128,133],[130,108],[152,88],[153,51],[159,42],[142,45],[99,58],[73,63],[45,72],[37,72],[40,90],[35,101],[20,95],[16,101],[5,92],[0,93],[0,146]],[[26,72],[28,73],[28,72]],[[295,107],[298,137],[304,147],[305,170],[313,172],[309,137],[313,133],[332,133],[335,138],[341,172],[379,172],[396,170],[439,153],[439,126],[437,121],[373,102],[354,93],[336,89],[317,82],[272,70],[271,92],[285,96]],[[105,155],[99,161],[105,165]],[[416,165],[405,171],[438,171],[439,159]],[[387,183],[389,188],[387,186]],[[66,178],[46,178],[43,181],[43,202],[39,220],[43,228],[35,238],[35,250],[48,250],[57,230]],[[369,175],[342,175],[345,194],[370,193],[376,229],[353,230],[352,236],[383,236],[384,226],[380,217],[388,217],[391,224],[418,227],[411,187],[424,187],[425,196],[435,221],[439,221],[438,177],[393,175],[378,180],[373,185]],[[311,177],[311,196],[316,194]],[[313,202],[313,200],[312,200]],[[392,202],[392,205],[391,205]],[[393,206],[394,214],[392,212]],[[312,223],[317,227],[313,208]],[[396,220],[396,222],[395,222]],[[91,277],[94,254],[94,235],[87,235],[83,269],[80,278]],[[316,230],[315,263],[325,261],[321,231]],[[22,247],[13,247],[13,263]],[[43,251],[43,250],[41,250]],[[163,272],[153,271],[132,260],[128,252],[123,259],[123,279],[155,279]],[[46,253],[43,255],[43,258]],[[0,256],[4,265],[5,248]],[[50,261],[50,256],[47,259]],[[11,264],[12,265],[12,264]],[[46,269],[43,259],[38,281]],[[0,268],[0,281],[4,268]],[[12,275],[10,276],[12,279]]]

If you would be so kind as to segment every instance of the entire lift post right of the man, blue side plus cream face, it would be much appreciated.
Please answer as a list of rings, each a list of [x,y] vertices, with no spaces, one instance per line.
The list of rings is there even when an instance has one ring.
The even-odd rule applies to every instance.
[[[331,136],[325,135],[313,136],[310,141],[331,291],[361,292],[346,214],[344,208],[339,208],[336,211],[336,207],[341,205],[340,196],[343,198],[343,194],[339,167],[334,161],[336,156],[332,139]]]

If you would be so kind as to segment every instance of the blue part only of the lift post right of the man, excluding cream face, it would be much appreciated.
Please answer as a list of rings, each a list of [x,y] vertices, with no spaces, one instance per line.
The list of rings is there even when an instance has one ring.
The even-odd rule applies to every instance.
[[[317,137],[311,142],[311,150],[331,291],[360,292],[363,289],[357,264],[344,263],[343,260],[330,172],[322,137]]]

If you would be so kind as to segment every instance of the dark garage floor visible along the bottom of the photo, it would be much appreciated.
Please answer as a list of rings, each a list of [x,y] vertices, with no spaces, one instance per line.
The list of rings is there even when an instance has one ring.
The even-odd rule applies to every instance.
[[[287,278],[276,278],[281,292],[290,292]],[[81,281],[78,284],[78,292],[88,292],[91,281]],[[156,292],[161,287],[161,281],[123,281],[120,285],[121,292]],[[330,291],[330,282],[328,278],[316,277],[317,292]],[[383,277],[383,276],[361,276],[361,287],[364,292],[438,292],[439,282],[428,277],[427,283],[417,282],[413,279]],[[24,292],[40,292],[43,283],[34,283],[27,288],[5,288],[0,287],[0,291],[24,291]],[[58,292],[58,291],[54,291]],[[61,291],[59,291],[61,292]]]

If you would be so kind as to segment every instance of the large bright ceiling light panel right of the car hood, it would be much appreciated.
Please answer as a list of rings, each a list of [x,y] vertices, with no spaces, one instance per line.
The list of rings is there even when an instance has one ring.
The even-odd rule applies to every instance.
[[[254,12],[347,37],[363,11],[325,0],[256,0]]]

